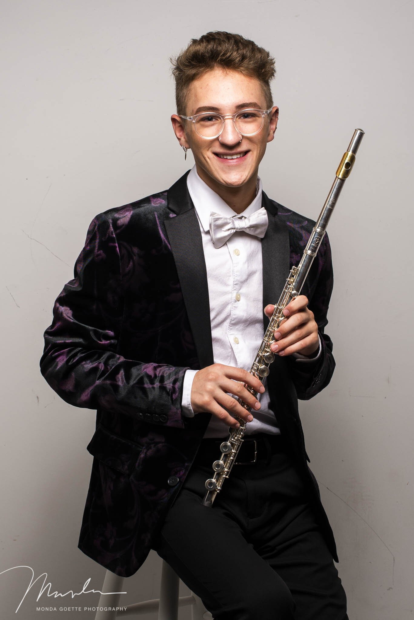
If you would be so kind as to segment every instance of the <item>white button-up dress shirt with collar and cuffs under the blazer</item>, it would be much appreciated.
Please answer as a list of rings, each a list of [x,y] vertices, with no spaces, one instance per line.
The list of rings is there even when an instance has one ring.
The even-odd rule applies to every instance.
[[[261,239],[245,231],[236,231],[222,247],[214,247],[209,230],[210,213],[227,218],[250,216],[261,208],[262,184],[258,177],[256,197],[241,214],[235,213],[225,201],[200,179],[196,166],[187,177],[187,187],[194,203],[202,235],[207,283],[209,286],[210,322],[214,363],[250,371],[263,340],[263,277]],[[269,299],[266,303],[275,303]],[[321,347],[320,347],[321,348]],[[295,355],[295,354],[294,354]],[[318,351],[320,355],[320,349]],[[318,356],[317,355],[317,356]],[[307,358],[296,354],[300,362]],[[315,358],[313,358],[315,359]],[[196,370],[184,376],[181,410],[186,417],[194,416],[191,407],[191,386]],[[266,388],[266,379],[263,379]],[[269,394],[258,394],[261,409],[252,410],[246,435],[269,433],[279,435],[275,412],[269,409]],[[232,414],[230,414],[232,415]],[[228,436],[228,425],[215,415],[207,426],[204,438]]]

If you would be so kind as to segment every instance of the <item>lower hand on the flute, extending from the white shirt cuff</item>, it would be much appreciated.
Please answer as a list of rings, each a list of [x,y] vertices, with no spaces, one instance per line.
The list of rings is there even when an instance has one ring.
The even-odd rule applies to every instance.
[[[208,412],[222,420],[229,427],[237,428],[240,424],[228,414],[238,415],[246,422],[251,422],[251,415],[230,394],[241,398],[251,409],[260,409],[260,403],[243,384],[253,387],[254,391],[263,394],[263,383],[253,374],[243,368],[233,368],[223,364],[213,364],[197,371],[194,375],[191,388],[191,407],[195,414]]]

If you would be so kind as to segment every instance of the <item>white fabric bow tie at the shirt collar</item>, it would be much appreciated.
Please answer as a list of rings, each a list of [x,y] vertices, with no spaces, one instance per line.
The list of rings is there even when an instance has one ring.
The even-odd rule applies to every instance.
[[[236,231],[245,231],[263,239],[267,228],[268,212],[264,206],[247,218],[244,216],[223,218],[213,211],[210,213],[210,235],[214,247],[222,247]]]

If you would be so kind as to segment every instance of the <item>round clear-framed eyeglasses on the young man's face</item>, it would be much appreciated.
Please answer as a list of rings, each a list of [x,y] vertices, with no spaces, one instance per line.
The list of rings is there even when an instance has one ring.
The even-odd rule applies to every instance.
[[[264,125],[264,117],[268,116],[269,110],[240,110],[235,114],[218,114],[217,112],[202,112],[192,117],[179,114],[179,117],[191,120],[198,135],[207,140],[218,138],[224,129],[226,118],[231,118],[236,131],[242,136],[254,136],[259,133]]]

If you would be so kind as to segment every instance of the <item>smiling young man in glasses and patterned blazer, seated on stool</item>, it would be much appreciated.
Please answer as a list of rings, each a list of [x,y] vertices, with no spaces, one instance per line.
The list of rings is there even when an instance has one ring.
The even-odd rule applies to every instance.
[[[326,236],[274,335],[268,378],[248,372],[313,226],[269,200],[258,177],[277,126],[273,75],[267,51],[226,32],[178,56],[171,120],[196,165],[92,221],[41,368],[65,401],[97,409],[81,551],[128,577],[155,549],[217,620],[344,620],[297,409],[335,367]],[[207,508],[205,480],[235,414],[245,440]]]

